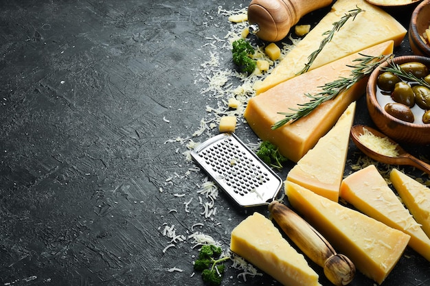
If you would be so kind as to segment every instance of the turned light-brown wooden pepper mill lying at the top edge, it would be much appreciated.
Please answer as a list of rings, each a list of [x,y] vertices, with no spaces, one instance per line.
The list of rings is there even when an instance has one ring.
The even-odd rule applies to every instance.
[[[282,40],[302,16],[331,3],[332,0],[252,0],[248,7],[249,31],[269,42]]]

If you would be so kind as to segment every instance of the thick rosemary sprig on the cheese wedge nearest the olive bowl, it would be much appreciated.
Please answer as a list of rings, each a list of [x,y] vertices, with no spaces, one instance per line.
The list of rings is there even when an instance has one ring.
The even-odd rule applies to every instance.
[[[358,64],[347,65],[347,67],[352,68],[349,78],[341,77],[333,82],[324,84],[324,86],[318,86],[319,88],[322,88],[322,90],[315,95],[305,93],[307,97],[310,97],[310,101],[304,104],[298,104],[298,106],[300,106],[299,108],[290,108],[295,112],[278,112],[280,115],[285,115],[285,118],[273,124],[272,130],[280,128],[290,121],[295,121],[305,117],[306,115],[309,115],[310,112],[313,112],[313,110],[315,110],[315,108],[317,108],[320,104],[327,102],[330,99],[334,99],[337,97],[337,95],[343,91],[346,91],[353,84],[359,82],[365,78],[365,76],[372,73],[372,71],[374,71],[374,69],[376,69],[379,64],[385,62],[393,56],[392,54],[382,56],[366,56],[361,53],[359,53],[359,55],[363,56],[363,58],[356,58],[354,60],[354,62],[359,62]]]

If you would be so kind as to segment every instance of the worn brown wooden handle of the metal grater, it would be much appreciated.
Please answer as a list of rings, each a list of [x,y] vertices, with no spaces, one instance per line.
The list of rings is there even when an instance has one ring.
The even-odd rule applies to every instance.
[[[269,211],[284,233],[317,265],[334,285],[347,285],[355,275],[354,264],[343,254],[337,254],[330,243],[315,228],[288,206],[278,201],[269,204]]]

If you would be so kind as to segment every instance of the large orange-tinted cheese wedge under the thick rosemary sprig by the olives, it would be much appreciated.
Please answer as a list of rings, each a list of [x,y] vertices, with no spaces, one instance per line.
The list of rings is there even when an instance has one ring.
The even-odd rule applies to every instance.
[[[361,53],[380,56],[392,53],[393,47],[393,41],[387,41],[365,49]],[[306,93],[315,95],[321,91],[321,86],[324,84],[338,80],[340,77],[348,78],[352,70],[348,65],[357,64],[354,62],[357,58],[363,58],[363,56],[354,53],[278,84],[269,91],[249,99],[244,113],[249,126],[260,139],[270,141],[278,146],[282,155],[297,162],[335,125],[348,105],[363,95],[366,80],[354,84],[337,95],[335,99],[321,104],[310,115],[272,130],[273,124],[284,118],[284,115],[278,112],[292,112],[290,108],[297,108],[299,104],[309,102],[310,98],[305,95]]]

